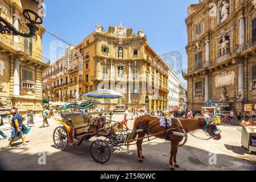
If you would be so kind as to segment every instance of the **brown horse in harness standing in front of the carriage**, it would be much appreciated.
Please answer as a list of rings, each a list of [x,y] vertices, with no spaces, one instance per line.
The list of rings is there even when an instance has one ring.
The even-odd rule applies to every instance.
[[[167,129],[174,129],[168,131],[168,133],[157,134],[161,131],[166,131]],[[179,164],[176,160],[177,147],[179,143],[183,140],[183,137],[177,136],[173,134],[173,131],[178,133],[183,133],[183,129],[188,133],[195,133],[196,130],[202,129],[206,133],[208,133],[213,139],[221,138],[221,131],[218,130],[217,126],[213,122],[206,122],[204,118],[197,119],[172,119],[171,127],[162,127],[160,126],[159,118],[151,117],[151,116],[142,116],[135,120],[133,131],[127,138],[127,140],[131,140],[137,137],[143,138],[145,135],[154,135],[154,137],[167,139],[171,142],[171,156],[170,156],[170,168],[172,170],[175,167],[179,168]],[[139,131],[139,132],[137,132]],[[142,153],[142,142],[143,139],[137,140],[137,153],[139,162],[143,162],[144,155]],[[127,142],[127,150],[129,151],[129,143]],[[174,164],[173,164],[174,162]]]

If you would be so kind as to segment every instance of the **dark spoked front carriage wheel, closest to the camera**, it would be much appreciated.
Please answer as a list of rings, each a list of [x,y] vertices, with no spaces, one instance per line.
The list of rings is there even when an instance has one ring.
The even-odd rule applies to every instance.
[[[97,163],[104,164],[110,159],[110,147],[104,140],[95,140],[90,145],[90,156]]]

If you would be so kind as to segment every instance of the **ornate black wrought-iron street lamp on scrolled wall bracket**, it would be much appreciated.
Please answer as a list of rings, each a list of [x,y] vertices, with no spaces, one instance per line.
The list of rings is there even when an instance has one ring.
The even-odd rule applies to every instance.
[[[13,26],[13,24],[7,22],[6,19],[0,16],[0,33],[7,35],[20,35],[26,38],[31,38],[35,36],[39,28],[37,24],[42,24],[43,19],[36,12],[39,10],[38,0],[21,0],[23,10],[23,16],[26,19],[26,26],[29,28],[30,32],[22,33]],[[35,12],[36,11],[36,12]]]

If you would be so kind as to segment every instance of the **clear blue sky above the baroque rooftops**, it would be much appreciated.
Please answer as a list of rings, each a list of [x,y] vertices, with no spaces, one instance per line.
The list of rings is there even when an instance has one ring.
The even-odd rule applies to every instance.
[[[133,32],[145,31],[148,44],[159,55],[180,51],[183,69],[187,68],[187,7],[198,0],[45,0],[46,16],[43,26],[72,44],[94,31],[96,24],[104,30],[122,22]],[[43,56],[49,57],[49,43],[56,40],[47,32],[43,35]],[[175,57],[174,57],[175,60]],[[176,61],[176,60],[175,60]],[[182,78],[181,74],[178,75]],[[182,82],[185,82],[182,79]]]

